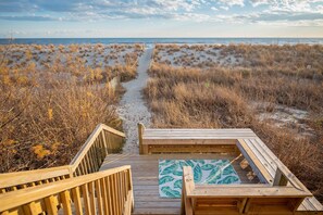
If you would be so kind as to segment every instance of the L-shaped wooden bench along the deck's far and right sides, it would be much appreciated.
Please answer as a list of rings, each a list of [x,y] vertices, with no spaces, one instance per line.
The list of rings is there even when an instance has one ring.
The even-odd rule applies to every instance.
[[[297,205],[297,210],[293,213],[323,214],[321,203],[310,194],[310,191],[251,129],[147,129],[144,125],[138,124],[138,135],[140,154],[241,153],[264,185],[271,186],[272,188],[279,187],[281,190],[299,190],[307,193],[307,197],[303,197],[301,202]],[[207,189],[204,191],[207,191]],[[237,193],[237,190],[235,192]],[[301,192],[298,194],[301,194]],[[236,200],[237,199],[233,202],[237,203],[241,199],[239,199],[239,201]],[[284,202],[286,199],[281,200]],[[220,200],[218,199],[218,201]],[[258,206],[254,205],[254,210],[261,205],[261,201],[262,200],[259,200]],[[276,201],[276,204],[283,203],[278,200],[273,201]],[[286,201],[289,201],[289,199]],[[256,202],[253,203],[256,204]],[[229,204],[228,202],[223,203]]]

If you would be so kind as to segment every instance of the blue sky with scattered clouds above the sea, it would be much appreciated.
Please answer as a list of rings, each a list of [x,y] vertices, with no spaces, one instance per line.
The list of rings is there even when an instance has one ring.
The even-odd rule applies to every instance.
[[[0,0],[0,38],[323,37],[323,0]]]

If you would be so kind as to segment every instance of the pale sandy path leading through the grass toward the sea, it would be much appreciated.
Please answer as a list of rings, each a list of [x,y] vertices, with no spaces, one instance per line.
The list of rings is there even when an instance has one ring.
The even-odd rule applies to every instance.
[[[137,78],[122,84],[126,92],[120,102],[117,113],[123,119],[123,129],[126,134],[126,143],[123,147],[123,153],[139,153],[137,124],[142,123],[145,126],[150,126],[151,114],[145,104],[141,90],[146,87],[149,77],[147,71],[152,50],[153,48],[146,49],[140,56]]]

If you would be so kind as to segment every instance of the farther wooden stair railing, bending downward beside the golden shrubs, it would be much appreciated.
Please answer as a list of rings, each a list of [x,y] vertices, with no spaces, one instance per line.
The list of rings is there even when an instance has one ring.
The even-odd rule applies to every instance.
[[[124,137],[123,132],[99,124],[70,165],[0,174],[0,193],[98,172],[104,157],[120,149]]]

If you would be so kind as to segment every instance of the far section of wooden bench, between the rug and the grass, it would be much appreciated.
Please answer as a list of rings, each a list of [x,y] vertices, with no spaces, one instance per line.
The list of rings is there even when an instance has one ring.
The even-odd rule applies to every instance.
[[[256,138],[251,129],[147,129],[138,124],[140,154],[238,153],[237,139]]]

